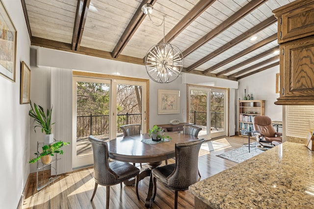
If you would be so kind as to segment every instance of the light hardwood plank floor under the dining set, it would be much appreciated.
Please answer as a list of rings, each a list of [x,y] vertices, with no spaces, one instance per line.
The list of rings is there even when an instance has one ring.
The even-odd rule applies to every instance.
[[[220,142],[229,143],[228,146],[211,151],[200,150],[199,171],[202,180],[217,174],[237,163],[216,157],[242,146],[242,138],[238,136],[226,137]],[[168,163],[174,163],[169,159]],[[138,164],[136,164],[138,165]],[[139,167],[139,166],[138,166]],[[141,169],[148,168],[143,163]],[[85,168],[79,171],[63,174],[50,187],[36,191],[36,179],[31,180],[26,192],[23,209],[103,209],[105,208],[105,186],[98,186],[94,200],[90,198],[94,190],[93,168]],[[134,186],[123,188],[120,184],[110,187],[110,209],[145,209],[145,198],[148,190],[149,178],[139,183],[139,196],[137,200]],[[190,209],[194,207],[194,196],[188,191],[179,191],[178,208]],[[174,191],[157,182],[157,196],[151,209],[174,208]]]

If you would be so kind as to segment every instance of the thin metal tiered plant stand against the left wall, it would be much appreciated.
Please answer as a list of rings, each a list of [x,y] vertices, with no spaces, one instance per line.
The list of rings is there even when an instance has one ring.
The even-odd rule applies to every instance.
[[[39,154],[38,148],[42,147],[44,145],[43,142],[38,142],[37,141],[37,156]],[[54,181],[56,179],[58,179],[60,176],[55,175],[54,177],[51,177],[49,179],[45,179],[45,172],[44,172],[44,168],[47,167],[48,165],[51,165],[51,169],[55,170],[55,173],[57,173],[56,167],[57,167],[57,161],[60,158],[57,158],[57,154],[54,154],[54,156],[52,157],[52,161],[50,163],[48,163],[47,165],[39,162],[39,160],[37,160],[37,173],[36,173],[36,187],[37,187],[37,191],[41,190],[42,188],[44,188],[45,186],[49,185],[50,183],[54,183]],[[54,164],[55,163],[55,164]],[[53,167],[52,164],[54,164],[55,166]],[[42,170],[42,171],[41,171]],[[42,172],[42,179],[38,180],[38,175],[39,173]]]

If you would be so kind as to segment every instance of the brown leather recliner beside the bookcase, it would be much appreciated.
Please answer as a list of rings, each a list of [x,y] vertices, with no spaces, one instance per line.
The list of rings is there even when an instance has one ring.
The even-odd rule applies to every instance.
[[[253,127],[256,134],[256,140],[260,144],[259,148],[272,148],[275,144],[282,143],[282,133],[276,132],[271,125],[271,119],[267,116],[255,116]]]

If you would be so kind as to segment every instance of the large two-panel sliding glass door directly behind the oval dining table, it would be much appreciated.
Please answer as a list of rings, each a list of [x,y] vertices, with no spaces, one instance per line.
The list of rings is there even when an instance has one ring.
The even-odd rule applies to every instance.
[[[89,135],[110,140],[123,136],[126,124],[146,132],[145,95],[145,82],[73,77],[73,168],[93,163]]]

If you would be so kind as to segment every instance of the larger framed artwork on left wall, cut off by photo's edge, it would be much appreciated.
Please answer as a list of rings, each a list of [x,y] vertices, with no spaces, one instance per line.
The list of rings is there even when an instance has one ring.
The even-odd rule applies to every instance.
[[[0,0],[0,74],[15,81],[16,29]]]

